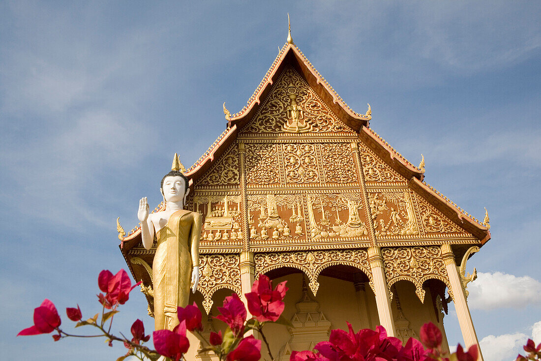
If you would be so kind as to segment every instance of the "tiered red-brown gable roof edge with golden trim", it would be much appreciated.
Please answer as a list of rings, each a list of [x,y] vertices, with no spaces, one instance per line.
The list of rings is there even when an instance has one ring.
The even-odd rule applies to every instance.
[[[429,199],[440,212],[481,240],[481,244],[484,244],[490,239],[490,226],[487,222],[487,218],[481,223],[446,198],[443,194],[425,183],[423,181],[425,172],[424,166],[420,166],[419,168],[415,167],[370,128],[369,122],[372,119],[370,106],[368,106],[366,114],[356,113],[349,108],[325,78],[321,76],[319,71],[313,67],[304,54],[302,54],[299,48],[293,43],[286,43],[283,45],[259,86],[248,99],[245,107],[239,112],[229,115],[229,112],[224,105],[226,119],[228,120],[227,128],[199,160],[184,173],[190,178],[190,186],[213,165],[215,159],[218,159],[225,152],[229,145],[236,139],[237,132],[253,119],[263,100],[266,99],[266,96],[271,91],[273,83],[278,79],[283,68],[288,65],[293,66],[293,68],[305,78],[306,82],[326,106],[333,111],[347,127],[354,130],[354,132],[358,134],[359,139],[363,141],[372,152],[377,154],[383,161],[408,180],[409,187],[419,192],[426,199]],[[134,228],[132,231],[133,232],[130,232],[130,234],[123,239],[124,241],[134,239],[140,232],[138,231],[138,228]]]

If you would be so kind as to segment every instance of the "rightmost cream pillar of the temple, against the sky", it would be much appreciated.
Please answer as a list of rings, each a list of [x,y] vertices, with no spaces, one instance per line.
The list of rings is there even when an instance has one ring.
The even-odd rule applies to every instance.
[[[464,293],[464,287],[460,280],[457,264],[454,261],[454,254],[451,250],[451,245],[441,245],[441,256],[445,262],[445,269],[447,270],[447,277],[451,284],[451,290],[453,292],[454,309],[457,311],[458,323],[460,324],[460,331],[462,331],[462,337],[466,348],[471,345],[477,345],[479,350],[478,360],[483,361],[483,355],[481,354],[481,348],[479,346],[479,340],[473,327],[473,321],[470,314],[470,309],[466,303],[466,295]]]

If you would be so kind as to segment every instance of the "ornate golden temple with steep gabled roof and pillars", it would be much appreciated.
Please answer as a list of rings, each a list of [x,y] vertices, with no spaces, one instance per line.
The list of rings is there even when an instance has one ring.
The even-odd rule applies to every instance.
[[[490,239],[489,218],[425,183],[424,158],[415,167],[376,134],[370,106],[350,109],[290,35],[247,105],[223,109],[227,129],[184,172],[188,209],[203,216],[192,298],[207,312],[206,332],[225,327],[212,318],[223,299],[243,299],[265,273],[290,288],[283,315],[293,326],[268,326],[276,359],[328,340],[346,321],[355,330],[383,325],[403,342],[428,321],[445,335],[450,302],[464,343],[478,344],[466,303],[476,272],[465,266]],[[152,315],[155,246],[143,248],[140,228],[118,229]]]

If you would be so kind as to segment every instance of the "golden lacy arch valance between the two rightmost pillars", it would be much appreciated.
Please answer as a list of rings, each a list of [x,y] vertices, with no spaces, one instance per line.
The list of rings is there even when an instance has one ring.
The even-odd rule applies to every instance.
[[[381,255],[388,287],[400,280],[411,281],[415,285],[415,294],[424,302],[423,283],[433,278],[443,281],[453,296],[440,247],[381,248]]]

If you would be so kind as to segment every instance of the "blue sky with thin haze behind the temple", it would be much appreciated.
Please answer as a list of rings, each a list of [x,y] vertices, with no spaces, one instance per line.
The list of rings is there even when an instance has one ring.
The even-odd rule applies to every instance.
[[[5,358],[116,359],[123,346],[18,337],[50,298],[97,312],[125,267],[115,220],[160,202],[171,155],[192,165],[296,45],[348,105],[492,240],[469,261],[485,360],[541,334],[540,2],[0,2],[0,313]],[[128,331],[141,294],[118,316]],[[67,329],[69,320],[64,317]],[[450,344],[463,342],[456,314]],[[541,342],[541,339],[537,339]],[[489,349],[491,351],[489,351]],[[83,355],[81,355],[81,353]]]

